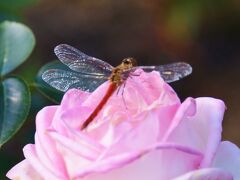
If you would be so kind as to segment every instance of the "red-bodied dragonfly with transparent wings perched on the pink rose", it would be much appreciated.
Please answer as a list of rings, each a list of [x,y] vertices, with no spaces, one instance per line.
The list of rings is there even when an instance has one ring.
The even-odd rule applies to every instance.
[[[56,46],[54,52],[58,59],[68,67],[68,70],[49,69],[42,74],[42,79],[55,89],[66,92],[77,88],[92,92],[105,81],[110,82],[102,100],[83,122],[81,130],[88,127],[118,87],[129,77],[136,75],[134,72],[137,69],[145,72],[158,71],[167,83],[177,81],[192,72],[191,65],[185,62],[159,66],[137,66],[134,58],[125,58],[120,65],[113,67],[67,44]]]

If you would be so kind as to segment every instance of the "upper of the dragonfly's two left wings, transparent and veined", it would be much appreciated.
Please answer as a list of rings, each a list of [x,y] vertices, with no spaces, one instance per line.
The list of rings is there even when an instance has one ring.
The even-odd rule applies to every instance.
[[[99,76],[110,76],[113,69],[107,62],[88,56],[67,44],[56,46],[54,52],[58,59],[73,71]]]

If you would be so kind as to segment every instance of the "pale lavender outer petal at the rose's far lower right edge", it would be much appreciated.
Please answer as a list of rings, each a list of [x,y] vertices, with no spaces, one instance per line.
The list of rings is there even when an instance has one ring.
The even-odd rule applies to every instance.
[[[239,179],[240,149],[229,141],[221,142],[211,166],[222,168],[231,173],[234,179]]]

